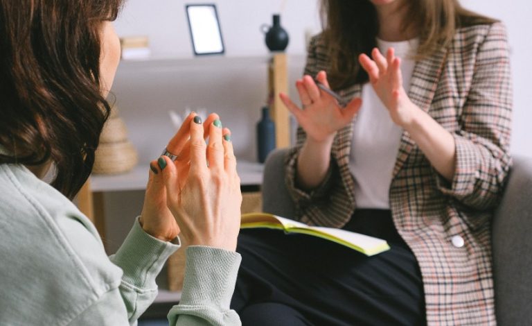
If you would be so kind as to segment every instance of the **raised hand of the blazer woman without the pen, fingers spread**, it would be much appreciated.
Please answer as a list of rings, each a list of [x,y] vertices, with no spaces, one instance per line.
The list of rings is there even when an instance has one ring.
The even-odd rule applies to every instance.
[[[393,48],[388,49],[386,58],[375,48],[371,51],[371,57],[373,60],[361,54],[360,65],[368,73],[375,93],[388,109],[393,122],[404,128],[413,119],[416,107],[402,87],[401,60],[395,56]]]

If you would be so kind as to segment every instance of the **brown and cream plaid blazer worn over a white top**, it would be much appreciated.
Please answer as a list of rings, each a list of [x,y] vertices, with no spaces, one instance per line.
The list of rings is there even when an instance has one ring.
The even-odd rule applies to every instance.
[[[328,57],[318,35],[309,46],[305,74],[315,76],[321,69],[328,69]],[[353,97],[361,89],[353,85],[339,92]],[[403,132],[389,190],[393,221],[423,275],[427,323],[495,325],[490,220],[511,166],[504,25],[460,28],[450,46],[416,62],[408,94],[456,144],[456,171],[449,182]],[[294,183],[305,139],[299,128],[286,161],[286,183],[301,221],[340,228],[351,218],[357,206],[348,168],[352,135],[352,125],[337,132],[326,179],[308,193]]]

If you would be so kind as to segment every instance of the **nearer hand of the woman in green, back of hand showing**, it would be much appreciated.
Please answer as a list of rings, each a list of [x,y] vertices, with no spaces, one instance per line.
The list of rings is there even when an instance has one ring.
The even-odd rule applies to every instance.
[[[209,121],[209,119],[208,119]],[[190,123],[187,159],[162,157],[166,203],[188,245],[236,250],[240,230],[240,178],[230,141],[230,130],[220,120],[206,124],[209,146],[201,123]]]

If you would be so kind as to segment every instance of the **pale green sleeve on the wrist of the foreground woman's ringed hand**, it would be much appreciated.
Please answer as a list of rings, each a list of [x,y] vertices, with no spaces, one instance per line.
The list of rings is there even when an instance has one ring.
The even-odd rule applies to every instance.
[[[109,257],[123,270],[119,293],[131,325],[136,324],[136,319],[157,296],[155,277],[159,275],[166,259],[178,248],[179,245],[160,241],[144,232],[137,218],[122,246],[115,255]],[[113,298],[116,295],[109,293],[107,296]]]

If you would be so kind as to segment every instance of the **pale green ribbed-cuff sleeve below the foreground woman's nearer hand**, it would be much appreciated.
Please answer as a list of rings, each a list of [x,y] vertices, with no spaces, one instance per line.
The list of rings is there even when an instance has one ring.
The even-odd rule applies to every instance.
[[[241,325],[236,311],[229,309],[241,259],[237,252],[188,247],[183,292],[168,313],[169,325]]]

